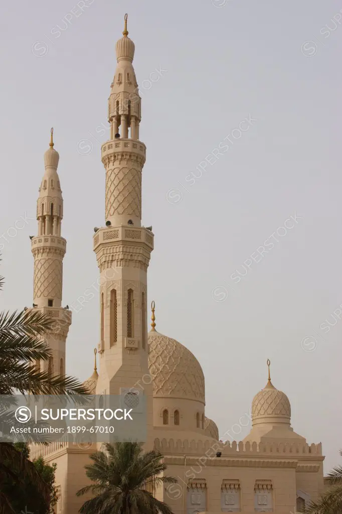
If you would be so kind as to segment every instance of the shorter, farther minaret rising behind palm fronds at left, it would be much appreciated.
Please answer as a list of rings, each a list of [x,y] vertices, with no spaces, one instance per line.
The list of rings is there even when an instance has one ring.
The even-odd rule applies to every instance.
[[[65,374],[65,341],[71,324],[71,311],[62,308],[63,257],[66,240],[61,237],[63,197],[57,173],[59,153],[53,148],[53,129],[49,149],[44,154],[45,173],[37,200],[38,235],[32,237],[34,257],[33,309],[53,318],[54,328],[45,335],[53,357],[37,362],[41,371]]]

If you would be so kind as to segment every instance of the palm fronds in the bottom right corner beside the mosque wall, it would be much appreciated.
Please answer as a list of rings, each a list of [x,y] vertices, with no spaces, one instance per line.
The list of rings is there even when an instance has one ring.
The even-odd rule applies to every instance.
[[[342,456],[342,450],[339,454]],[[342,512],[342,466],[335,466],[324,479],[330,485],[317,502],[311,502],[303,510],[305,514],[341,514]]]

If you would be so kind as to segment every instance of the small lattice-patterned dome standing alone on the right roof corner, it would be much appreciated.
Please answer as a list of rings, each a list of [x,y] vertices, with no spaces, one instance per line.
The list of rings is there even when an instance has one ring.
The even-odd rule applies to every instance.
[[[252,402],[252,418],[291,418],[291,406],[285,393],[276,389],[271,380],[262,391],[255,395]],[[267,422],[267,420],[264,420]]]

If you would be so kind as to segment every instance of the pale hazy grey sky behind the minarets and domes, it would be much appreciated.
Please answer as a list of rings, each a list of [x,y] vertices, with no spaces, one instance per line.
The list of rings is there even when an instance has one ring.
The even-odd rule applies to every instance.
[[[249,412],[270,358],[292,426],[322,442],[327,472],[342,447],[340,2],[35,0],[1,9],[0,308],[32,304],[29,235],[53,126],[63,305],[74,308],[67,373],[91,375],[99,303],[78,298],[99,276],[100,147],[128,12],[157,329],[200,361],[206,415],[220,435]],[[24,228],[11,229],[25,215]]]

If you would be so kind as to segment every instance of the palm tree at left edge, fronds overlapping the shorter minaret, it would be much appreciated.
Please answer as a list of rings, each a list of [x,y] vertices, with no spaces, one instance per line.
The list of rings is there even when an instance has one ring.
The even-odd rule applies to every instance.
[[[0,290],[3,284],[4,279],[0,277]],[[36,360],[48,360],[52,356],[42,340],[52,326],[50,318],[40,312],[0,313],[0,394],[13,395],[17,391],[22,394],[88,394],[77,379],[52,377],[32,365]],[[2,489],[8,478],[19,487],[23,480],[30,479],[49,501],[49,488],[34,465],[13,444],[4,442],[0,443],[0,514],[13,513],[11,500]]]

